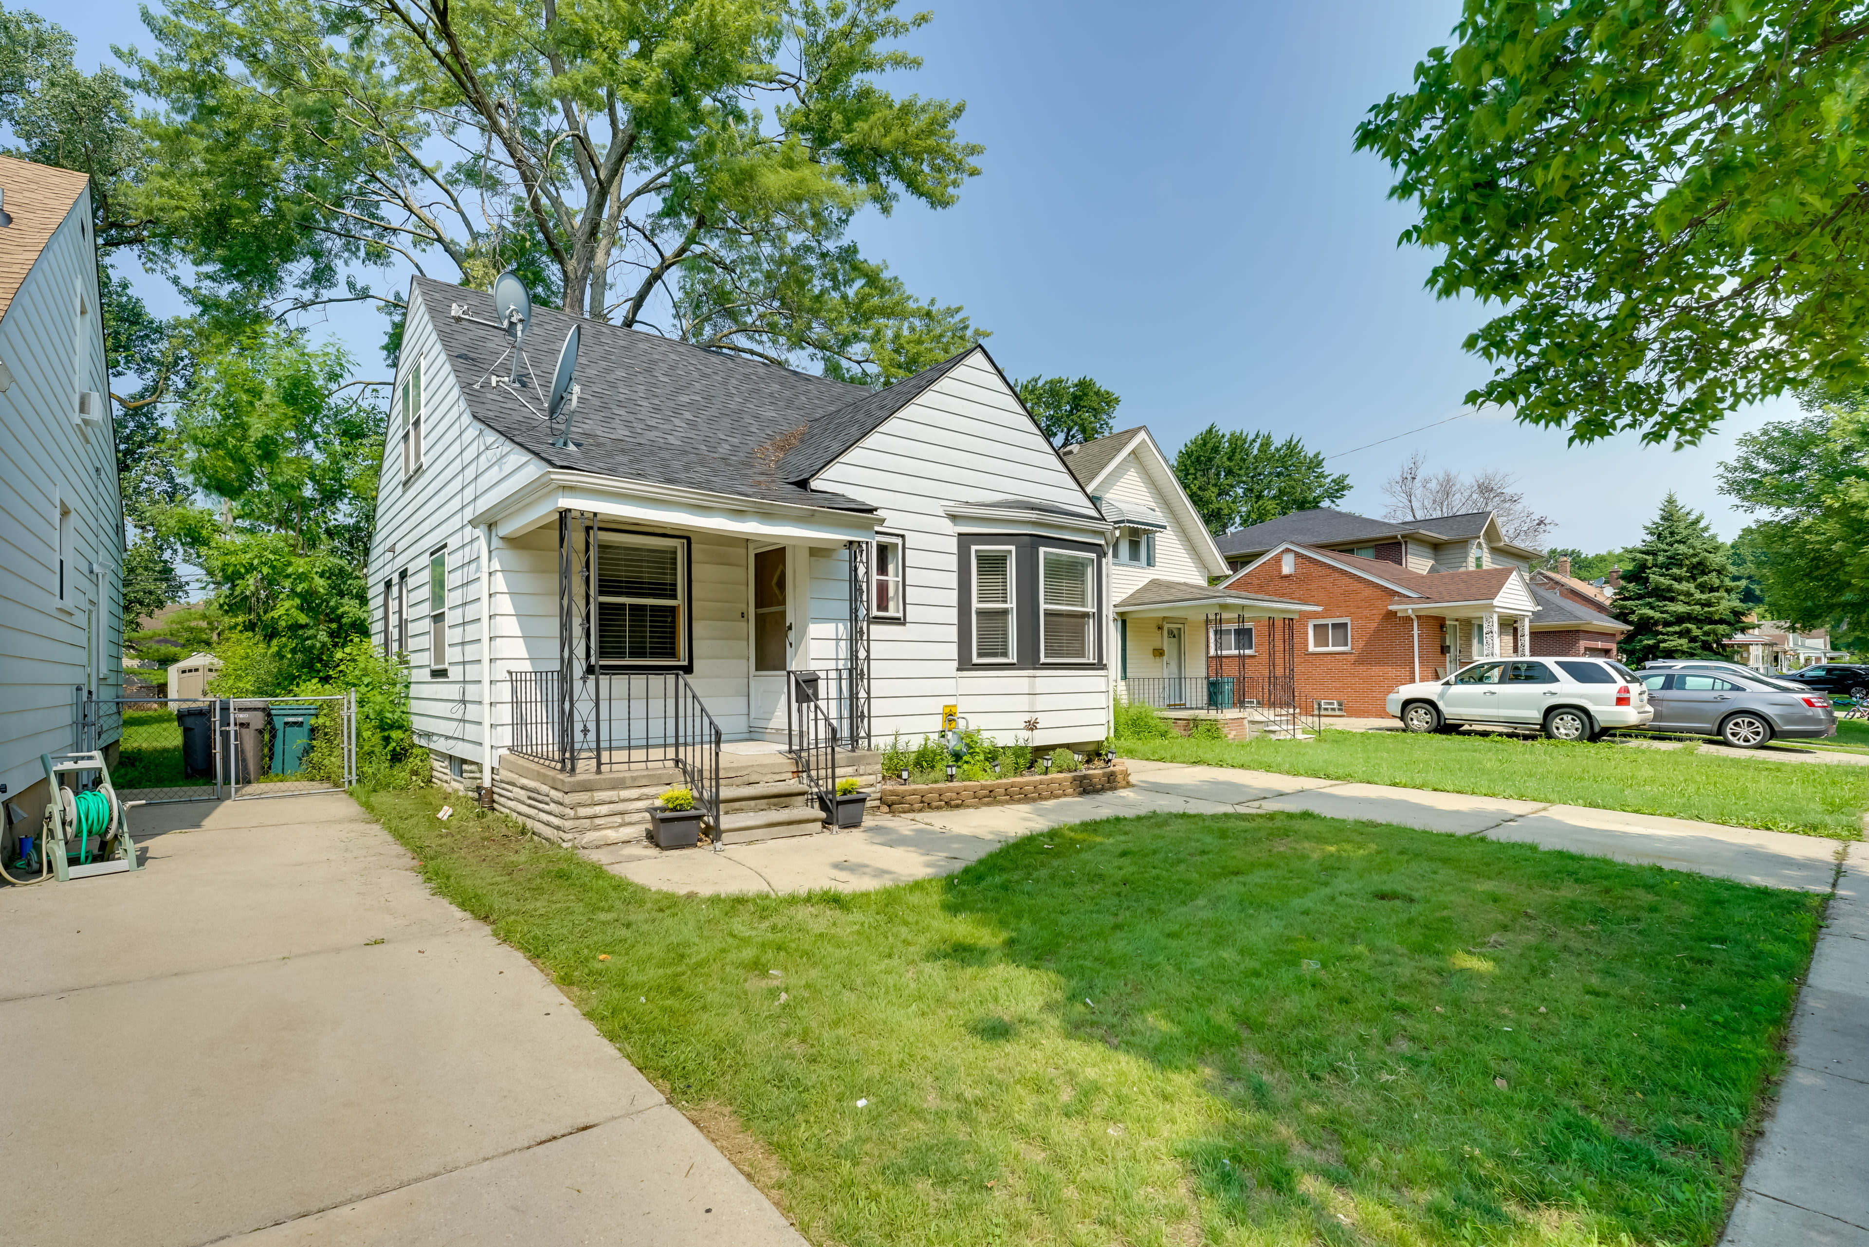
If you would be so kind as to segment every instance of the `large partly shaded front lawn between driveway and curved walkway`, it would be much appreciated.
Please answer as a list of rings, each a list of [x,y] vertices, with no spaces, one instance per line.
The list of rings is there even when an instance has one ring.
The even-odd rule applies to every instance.
[[[364,795],[845,1247],[1712,1243],[1822,909],[1314,815],[682,897],[441,800]]]

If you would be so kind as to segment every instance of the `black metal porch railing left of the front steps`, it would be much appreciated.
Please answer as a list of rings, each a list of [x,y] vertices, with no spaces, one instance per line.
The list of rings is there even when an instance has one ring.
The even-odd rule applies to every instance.
[[[720,847],[720,724],[680,671],[606,671],[570,686],[557,671],[512,671],[508,753],[578,774],[675,767]],[[578,724],[574,735],[568,727]]]

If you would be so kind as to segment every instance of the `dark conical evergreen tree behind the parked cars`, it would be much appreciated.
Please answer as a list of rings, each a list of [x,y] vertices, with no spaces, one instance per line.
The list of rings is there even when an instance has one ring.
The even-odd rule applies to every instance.
[[[1628,552],[1615,611],[1630,624],[1620,643],[1624,662],[1733,656],[1721,641],[1746,615],[1733,563],[1706,518],[1673,494]]]

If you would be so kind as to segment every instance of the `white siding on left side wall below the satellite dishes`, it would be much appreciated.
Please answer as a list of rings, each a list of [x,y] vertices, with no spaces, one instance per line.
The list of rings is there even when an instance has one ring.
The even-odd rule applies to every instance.
[[[445,310],[443,310],[445,314]],[[409,574],[409,710],[417,740],[430,750],[478,763],[482,757],[480,533],[471,518],[484,499],[506,497],[546,466],[531,452],[467,415],[460,383],[441,353],[430,308],[411,290],[391,391],[383,466],[378,479],[376,535],[370,540],[372,641],[385,645],[383,581]],[[402,381],[422,361],[422,466],[402,473]],[[467,381],[473,383],[471,380]],[[549,550],[540,557],[533,546]],[[447,675],[430,675],[428,557],[447,548]],[[516,666],[555,667],[557,529],[548,525],[518,542],[493,538],[492,634],[495,658],[495,742],[508,720],[505,673]],[[391,589],[394,609],[394,587]],[[527,662],[529,660],[529,662]]]

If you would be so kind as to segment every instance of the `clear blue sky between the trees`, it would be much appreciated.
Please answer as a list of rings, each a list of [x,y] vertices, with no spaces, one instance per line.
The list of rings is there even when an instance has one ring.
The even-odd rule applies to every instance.
[[[964,99],[983,172],[955,208],[871,217],[860,237],[916,294],[964,305],[1011,376],[1090,374],[1123,396],[1118,424],[1148,424],[1170,454],[1209,423],[1336,454],[1462,411],[1486,376],[1460,350],[1482,308],[1422,290],[1432,258],[1394,241],[1407,209],[1385,198],[1385,166],[1351,150],[1363,112],[1445,41],[1458,0],[903,9],[923,6],[934,21],[908,47],[925,67],[890,86]],[[28,7],[73,28],[86,65],[112,43],[150,45],[125,0]],[[381,372],[379,316],[335,312],[331,327]],[[1366,514],[1419,449],[1432,467],[1516,473],[1559,546],[1639,538],[1667,490],[1731,538],[1746,520],[1714,466],[1734,434],[1791,411],[1744,411],[1680,452],[1634,437],[1568,449],[1493,413],[1333,467]]]

